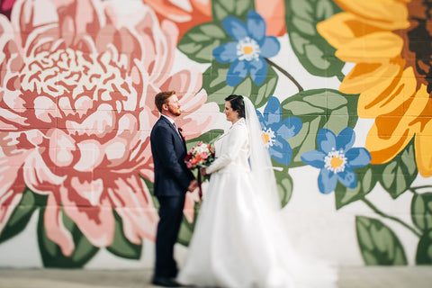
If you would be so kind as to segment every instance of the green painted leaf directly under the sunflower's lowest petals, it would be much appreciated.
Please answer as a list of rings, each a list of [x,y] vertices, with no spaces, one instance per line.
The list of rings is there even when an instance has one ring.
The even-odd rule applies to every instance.
[[[375,165],[374,174],[381,175],[379,181],[393,199],[407,191],[418,175],[414,139],[392,161]]]

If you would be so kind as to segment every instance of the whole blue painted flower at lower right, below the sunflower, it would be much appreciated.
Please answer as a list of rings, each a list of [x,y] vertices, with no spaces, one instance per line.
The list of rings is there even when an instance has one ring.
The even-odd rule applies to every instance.
[[[347,127],[338,137],[327,129],[318,131],[319,150],[303,153],[305,164],[320,168],[318,185],[321,193],[335,190],[338,181],[348,188],[356,188],[357,176],[353,169],[366,166],[371,162],[371,154],[365,148],[352,148],[356,133]]]

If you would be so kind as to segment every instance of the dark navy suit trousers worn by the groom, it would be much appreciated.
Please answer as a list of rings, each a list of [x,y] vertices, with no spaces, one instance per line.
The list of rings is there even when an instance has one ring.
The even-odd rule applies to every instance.
[[[183,219],[184,198],[182,196],[157,196],[159,202],[159,223],[156,237],[157,277],[175,277],[177,265],[174,246]]]

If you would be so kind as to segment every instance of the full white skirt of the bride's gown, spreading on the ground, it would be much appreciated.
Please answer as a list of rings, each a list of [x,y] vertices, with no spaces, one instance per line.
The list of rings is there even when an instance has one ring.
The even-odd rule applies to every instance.
[[[278,211],[259,201],[248,172],[211,175],[181,284],[198,287],[336,287],[329,266],[298,257]]]

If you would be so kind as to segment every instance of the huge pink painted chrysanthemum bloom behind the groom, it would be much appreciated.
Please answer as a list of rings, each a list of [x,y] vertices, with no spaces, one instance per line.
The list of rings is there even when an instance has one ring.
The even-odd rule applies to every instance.
[[[65,256],[74,241],[62,211],[96,247],[112,244],[112,210],[130,242],[154,239],[139,176],[153,181],[153,96],[182,92],[186,137],[211,127],[217,104],[204,104],[199,71],[171,72],[177,29],[147,6],[121,16],[99,0],[34,3],[17,2],[12,23],[0,17],[0,231],[28,186],[48,195],[45,229]]]

